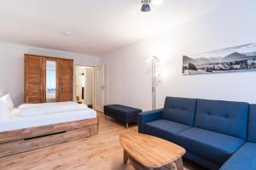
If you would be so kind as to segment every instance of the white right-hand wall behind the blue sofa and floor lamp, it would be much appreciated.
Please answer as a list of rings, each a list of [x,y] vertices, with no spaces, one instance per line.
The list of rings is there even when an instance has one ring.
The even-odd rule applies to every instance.
[[[159,108],[166,96],[256,103],[256,72],[182,75],[183,54],[256,42],[255,7],[255,0],[234,1],[186,25],[102,55],[107,67],[107,103],[151,109],[151,68],[147,60],[152,55],[161,60]]]

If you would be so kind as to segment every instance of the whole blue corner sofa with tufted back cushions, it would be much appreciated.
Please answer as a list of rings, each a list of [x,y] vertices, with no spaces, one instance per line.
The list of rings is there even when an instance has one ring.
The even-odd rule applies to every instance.
[[[138,123],[139,133],[183,146],[185,158],[208,169],[256,169],[256,105],[166,97]]]

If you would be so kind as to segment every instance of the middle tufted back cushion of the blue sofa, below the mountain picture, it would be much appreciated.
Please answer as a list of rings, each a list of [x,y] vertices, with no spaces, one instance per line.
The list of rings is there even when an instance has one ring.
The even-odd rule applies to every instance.
[[[198,99],[195,127],[247,139],[248,110],[243,102]]]

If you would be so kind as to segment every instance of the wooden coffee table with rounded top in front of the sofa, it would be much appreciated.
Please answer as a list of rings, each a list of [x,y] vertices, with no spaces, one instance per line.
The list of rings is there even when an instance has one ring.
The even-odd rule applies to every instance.
[[[172,162],[177,170],[183,170],[182,156],[186,150],[177,144],[135,132],[121,134],[120,144],[124,148],[124,163],[129,159],[137,170],[172,169]]]

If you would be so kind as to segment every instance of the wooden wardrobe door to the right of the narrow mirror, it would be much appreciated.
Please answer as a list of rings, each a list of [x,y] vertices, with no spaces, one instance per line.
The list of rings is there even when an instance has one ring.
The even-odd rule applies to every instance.
[[[59,101],[73,101],[73,59],[59,59]]]

